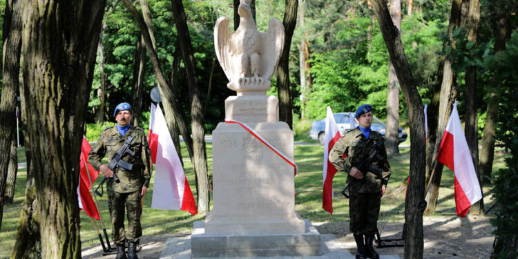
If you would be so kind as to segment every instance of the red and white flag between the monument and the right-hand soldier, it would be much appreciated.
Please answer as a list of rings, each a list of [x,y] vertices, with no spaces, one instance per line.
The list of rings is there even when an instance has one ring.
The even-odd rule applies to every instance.
[[[352,123],[352,122],[351,122]],[[329,162],[329,151],[334,144],[340,140],[340,131],[334,121],[331,107],[327,106],[327,115],[325,117],[325,146],[324,146],[324,180],[322,193],[322,208],[329,213],[333,213],[333,177],[338,171],[331,162]]]

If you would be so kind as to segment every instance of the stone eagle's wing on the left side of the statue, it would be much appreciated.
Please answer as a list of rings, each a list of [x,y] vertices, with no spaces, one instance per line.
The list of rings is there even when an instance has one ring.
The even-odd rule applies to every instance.
[[[231,37],[233,32],[229,30],[230,19],[228,17],[220,17],[214,26],[214,48],[216,57],[220,61],[220,66],[223,68],[225,75],[229,81],[233,75],[233,67],[231,61]]]

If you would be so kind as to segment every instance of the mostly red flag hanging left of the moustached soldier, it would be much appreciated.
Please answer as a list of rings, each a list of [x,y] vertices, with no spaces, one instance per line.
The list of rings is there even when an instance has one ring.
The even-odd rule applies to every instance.
[[[92,195],[90,194],[90,189],[92,188],[92,184],[90,184],[90,180],[95,182],[97,179],[97,175],[99,175],[99,171],[95,171],[93,166],[88,163],[88,153],[92,150],[90,144],[88,144],[88,140],[83,136],[83,142],[81,143],[81,157],[79,157],[79,186],[77,186],[77,202],[79,202],[79,209],[84,209],[86,215],[90,218],[95,218],[96,220],[101,220],[99,217],[99,211],[97,211],[97,206],[95,206],[95,202],[93,202]],[[88,178],[88,174],[90,178]]]

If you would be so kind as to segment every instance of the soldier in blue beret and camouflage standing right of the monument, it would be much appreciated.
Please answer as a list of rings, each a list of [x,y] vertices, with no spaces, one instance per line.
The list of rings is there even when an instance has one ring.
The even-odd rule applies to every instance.
[[[372,106],[364,104],[356,111],[356,119],[360,126],[345,135],[336,142],[329,152],[329,161],[338,171],[345,171],[349,185],[349,229],[354,235],[358,251],[356,258],[379,258],[374,251],[372,242],[374,234],[378,232],[377,222],[381,204],[381,196],[385,193],[388,178],[390,177],[390,165],[387,161],[385,146],[381,146],[379,157],[374,157],[372,166],[382,171],[382,178],[374,173],[362,172],[356,168],[376,143],[383,140],[383,135],[377,131],[371,131]],[[346,158],[343,155],[347,155]],[[381,157],[381,159],[380,159]],[[363,239],[365,236],[365,242]]]

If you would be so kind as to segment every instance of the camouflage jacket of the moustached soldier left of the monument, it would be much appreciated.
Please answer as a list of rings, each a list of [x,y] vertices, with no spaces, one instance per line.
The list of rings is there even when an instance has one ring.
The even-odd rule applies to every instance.
[[[149,179],[151,178],[151,170],[153,167],[151,164],[151,151],[149,150],[149,144],[144,130],[131,126],[126,134],[122,136],[117,130],[117,126],[104,128],[99,140],[88,154],[88,162],[92,164],[95,170],[99,170],[99,167],[103,164],[102,158],[104,155],[108,158],[109,163],[115,156],[117,150],[119,150],[131,136],[135,136],[135,139],[133,139],[133,142],[130,144],[130,149],[135,152],[135,155],[133,157],[131,155],[124,155],[122,160],[133,164],[133,169],[131,171],[125,171],[117,167],[117,170],[114,172],[117,174],[117,178],[119,178],[120,182],[117,183],[113,181],[113,178],[110,178],[106,182],[106,188],[117,193],[132,193],[134,191],[140,191],[142,186],[149,186]]]

